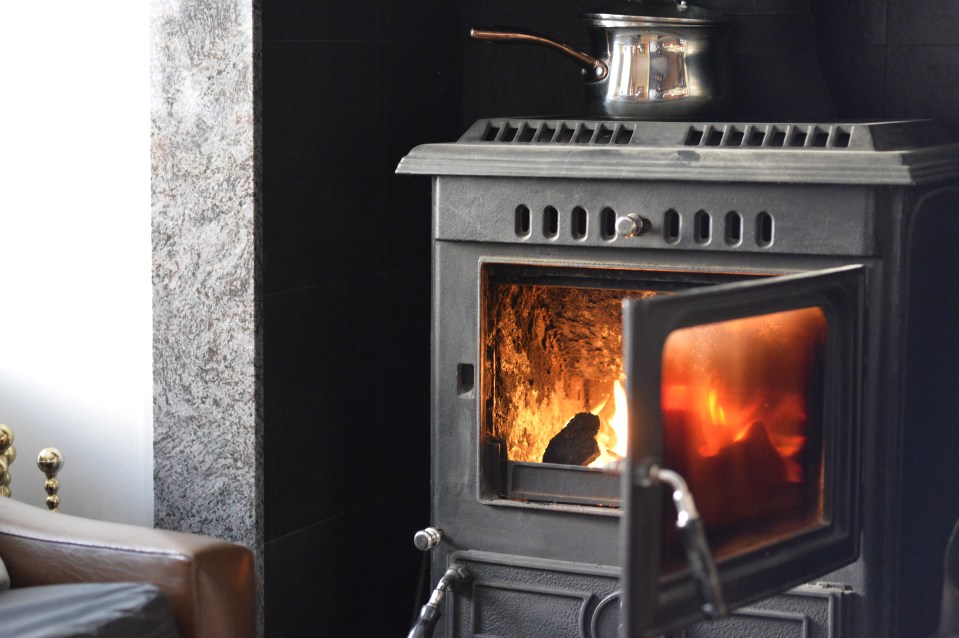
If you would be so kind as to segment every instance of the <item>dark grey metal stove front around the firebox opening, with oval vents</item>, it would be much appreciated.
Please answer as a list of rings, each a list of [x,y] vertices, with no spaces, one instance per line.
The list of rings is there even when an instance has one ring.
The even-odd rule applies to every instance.
[[[433,525],[444,530],[446,542],[434,550],[433,575],[437,579],[450,561],[461,561],[460,552],[481,552],[484,565],[498,566],[495,587],[473,585],[465,593],[473,605],[470,617],[479,624],[466,629],[474,621],[464,620],[467,602],[460,601],[450,603],[444,630],[448,636],[509,635],[481,630],[482,619],[492,618],[482,607],[509,607],[514,600],[509,592],[518,592],[519,607],[539,601],[566,609],[573,598],[585,600],[577,607],[578,622],[586,627],[581,635],[613,636],[588,628],[610,595],[605,586],[590,585],[585,598],[561,595],[565,602],[557,602],[543,593],[542,574],[525,566],[524,561],[546,561],[554,571],[580,574],[583,565],[592,565],[587,580],[599,582],[609,570],[618,573],[619,486],[615,477],[584,487],[569,471],[529,472],[528,461],[514,464],[517,471],[504,466],[506,449],[491,445],[487,434],[495,428],[487,415],[494,413],[494,401],[484,310],[489,273],[572,268],[580,276],[617,273],[622,280],[651,273],[675,290],[848,264],[868,267],[877,251],[875,197],[853,186],[469,177],[443,177],[434,184]],[[617,217],[636,213],[648,222],[646,231],[623,237],[604,211]],[[564,492],[580,491],[556,502],[551,491],[557,485]],[[504,490],[513,489],[519,498],[504,498]],[[840,609],[830,609],[827,624],[840,622]],[[749,613],[734,618],[746,618],[748,627],[754,617]]]

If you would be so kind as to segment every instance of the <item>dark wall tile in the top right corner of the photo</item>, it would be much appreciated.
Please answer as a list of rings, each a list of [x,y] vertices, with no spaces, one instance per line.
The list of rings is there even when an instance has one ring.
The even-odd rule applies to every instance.
[[[959,2],[956,0],[918,2],[887,0],[887,2],[889,3],[889,44],[959,45]],[[945,55],[954,58],[957,53],[950,51]]]

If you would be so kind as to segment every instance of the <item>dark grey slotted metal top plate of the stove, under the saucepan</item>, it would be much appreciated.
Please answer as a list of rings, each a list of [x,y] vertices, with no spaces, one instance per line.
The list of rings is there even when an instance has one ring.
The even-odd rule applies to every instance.
[[[426,144],[398,173],[584,179],[918,184],[959,177],[959,144],[932,120],[654,122],[481,119]]]

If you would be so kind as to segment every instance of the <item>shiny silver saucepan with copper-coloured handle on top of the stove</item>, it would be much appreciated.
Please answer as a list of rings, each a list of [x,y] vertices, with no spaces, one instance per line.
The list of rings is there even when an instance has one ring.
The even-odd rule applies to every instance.
[[[515,30],[472,29],[475,40],[537,44],[579,63],[587,110],[612,118],[696,119],[729,101],[725,26],[685,0],[625,0],[583,14],[592,53]]]

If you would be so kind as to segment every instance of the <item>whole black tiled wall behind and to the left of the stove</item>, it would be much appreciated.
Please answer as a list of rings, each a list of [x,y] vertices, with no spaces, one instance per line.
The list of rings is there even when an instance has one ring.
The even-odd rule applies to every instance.
[[[264,3],[268,635],[408,630],[410,539],[429,522],[430,183],[393,171],[480,117],[580,112],[575,64],[467,34],[510,25],[585,48],[578,14],[602,1]],[[840,117],[931,116],[959,134],[954,0],[812,8]]]

